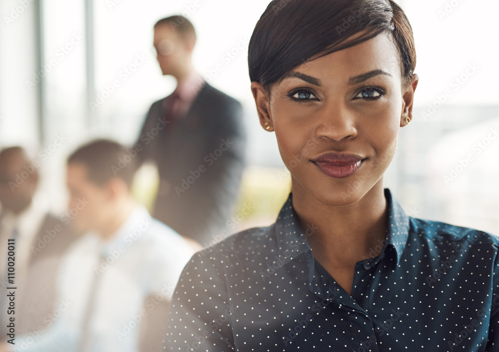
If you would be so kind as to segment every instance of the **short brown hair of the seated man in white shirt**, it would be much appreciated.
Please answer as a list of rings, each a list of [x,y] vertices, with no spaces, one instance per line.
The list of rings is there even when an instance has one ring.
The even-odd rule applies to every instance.
[[[108,139],[98,139],[73,152],[67,163],[81,163],[87,167],[88,179],[103,186],[113,177],[121,178],[128,188],[132,186],[137,170],[137,151],[130,153],[121,144]]]

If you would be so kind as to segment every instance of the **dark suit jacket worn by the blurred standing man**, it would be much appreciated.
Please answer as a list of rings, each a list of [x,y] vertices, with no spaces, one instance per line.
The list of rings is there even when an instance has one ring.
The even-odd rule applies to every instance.
[[[141,161],[156,162],[160,188],[154,217],[208,244],[227,229],[246,153],[241,104],[206,84],[186,116],[165,121],[163,100],[151,106],[137,142]],[[156,135],[155,135],[156,134]]]

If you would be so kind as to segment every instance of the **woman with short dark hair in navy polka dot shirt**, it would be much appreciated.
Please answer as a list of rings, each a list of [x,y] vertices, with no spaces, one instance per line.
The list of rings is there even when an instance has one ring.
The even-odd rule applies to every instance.
[[[388,0],[274,0],[249,47],[292,190],[275,224],[199,252],[171,351],[499,351],[498,239],[408,217],[388,189],[418,76]]]

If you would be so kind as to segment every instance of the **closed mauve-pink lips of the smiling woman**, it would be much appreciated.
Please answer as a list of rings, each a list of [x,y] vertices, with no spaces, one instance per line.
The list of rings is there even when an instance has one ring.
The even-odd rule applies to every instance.
[[[364,160],[354,154],[326,153],[311,161],[328,176],[346,178],[355,174]]]

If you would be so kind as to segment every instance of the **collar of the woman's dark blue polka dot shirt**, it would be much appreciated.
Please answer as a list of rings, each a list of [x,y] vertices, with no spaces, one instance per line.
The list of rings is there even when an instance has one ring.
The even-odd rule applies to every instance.
[[[384,193],[388,207],[387,233],[385,240],[380,243],[380,245],[382,245],[381,255],[379,255],[375,261],[373,260],[373,262],[366,259],[366,263],[369,263],[370,266],[377,263],[383,255],[389,255],[386,254],[390,252],[386,251],[387,246],[390,246],[395,250],[396,255],[394,256],[394,264],[397,265],[409,236],[409,217],[397,200],[393,198],[388,188],[384,190]],[[277,260],[280,265],[284,265],[301,253],[311,250],[306,238],[313,235],[316,228],[311,224],[307,225],[305,231],[301,230],[298,216],[292,205],[292,193],[289,194],[284,206],[280,210],[274,224],[274,229],[279,253]]]

